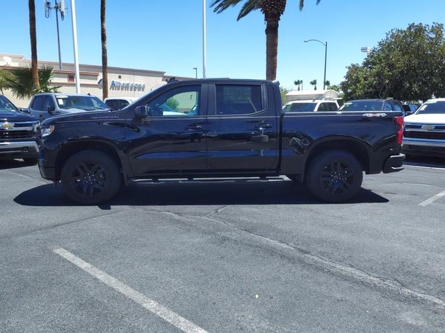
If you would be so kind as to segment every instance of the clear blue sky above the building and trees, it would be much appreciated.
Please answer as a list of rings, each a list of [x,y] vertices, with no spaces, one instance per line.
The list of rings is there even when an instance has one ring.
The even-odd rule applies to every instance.
[[[38,57],[58,60],[56,19],[44,17],[36,0]],[[54,0],[51,0],[54,3]],[[288,0],[280,21],[277,79],[284,87],[293,80],[323,82],[327,41],[327,80],[337,84],[346,66],[362,62],[362,46],[375,46],[392,28],[410,23],[444,22],[445,0]],[[207,0],[207,6],[211,0]],[[70,6],[70,0],[65,0]],[[99,0],[76,0],[79,60],[101,64]],[[266,37],[261,12],[236,22],[241,6],[216,14],[207,11],[207,77],[265,78]],[[31,57],[28,1],[1,0],[0,53]],[[166,71],[168,75],[202,75],[202,0],[108,0],[108,65]],[[60,24],[62,60],[73,61],[70,8]]]

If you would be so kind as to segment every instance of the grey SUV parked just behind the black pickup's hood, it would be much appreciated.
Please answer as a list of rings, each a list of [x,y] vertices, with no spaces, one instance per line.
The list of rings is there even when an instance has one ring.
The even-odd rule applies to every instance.
[[[35,94],[29,103],[29,108],[25,110],[29,112],[31,116],[42,120],[55,116],[56,114],[104,111],[109,110],[109,108],[96,96],[45,92]]]

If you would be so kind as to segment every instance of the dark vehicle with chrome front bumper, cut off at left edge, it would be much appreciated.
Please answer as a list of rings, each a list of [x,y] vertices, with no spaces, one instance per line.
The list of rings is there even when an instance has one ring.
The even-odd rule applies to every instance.
[[[0,159],[37,163],[40,122],[0,95]]]

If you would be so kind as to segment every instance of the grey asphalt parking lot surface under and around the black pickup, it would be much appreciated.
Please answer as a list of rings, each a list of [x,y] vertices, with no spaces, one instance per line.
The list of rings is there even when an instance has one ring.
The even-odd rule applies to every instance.
[[[445,332],[445,161],[351,203],[273,182],[76,206],[0,162],[0,332]]]

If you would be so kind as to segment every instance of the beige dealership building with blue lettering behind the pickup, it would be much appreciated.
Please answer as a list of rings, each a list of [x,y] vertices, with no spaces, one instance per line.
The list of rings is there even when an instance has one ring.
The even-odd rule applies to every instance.
[[[51,86],[60,86],[59,92],[76,93],[74,64],[63,62],[62,69],[58,69],[58,62],[39,60],[38,67],[44,65],[54,68]],[[15,67],[31,67],[31,60],[16,54],[0,53],[0,69],[13,70]],[[102,99],[102,66],[79,65],[79,70],[81,93],[92,94]],[[108,66],[108,96],[137,99],[147,92],[165,85],[170,78],[172,76],[165,75],[165,71]],[[188,79],[177,78],[179,80]],[[17,99],[8,89],[3,89],[3,92],[17,107],[28,107],[29,99]]]

